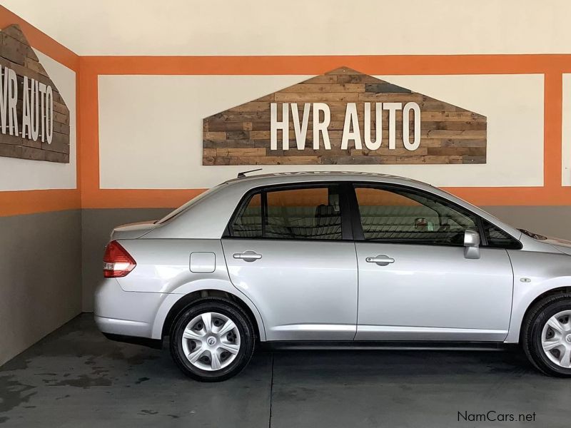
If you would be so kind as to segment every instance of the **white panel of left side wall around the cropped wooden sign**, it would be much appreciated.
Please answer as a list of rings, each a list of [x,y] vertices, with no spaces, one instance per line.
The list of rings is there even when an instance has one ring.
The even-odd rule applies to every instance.
[[[69,163],[0,156],[0,191],[76,188],[76,73],[34,51],[69,108]]]

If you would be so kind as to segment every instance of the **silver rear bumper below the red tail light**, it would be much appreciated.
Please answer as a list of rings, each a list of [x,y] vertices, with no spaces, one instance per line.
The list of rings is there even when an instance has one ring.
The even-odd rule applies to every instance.
[[[101,280],[95,291],[95,323],[104,334],[150,339],[164,297],[166,293],[123,291],[114,278]]]

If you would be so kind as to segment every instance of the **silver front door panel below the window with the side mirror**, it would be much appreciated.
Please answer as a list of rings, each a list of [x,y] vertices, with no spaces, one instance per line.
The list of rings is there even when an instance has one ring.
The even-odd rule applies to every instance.
[[[359,317],[355,340],[504,340],[513,275],[506,250],[357,243]],[[367,258],[388,255],[394,263]]]

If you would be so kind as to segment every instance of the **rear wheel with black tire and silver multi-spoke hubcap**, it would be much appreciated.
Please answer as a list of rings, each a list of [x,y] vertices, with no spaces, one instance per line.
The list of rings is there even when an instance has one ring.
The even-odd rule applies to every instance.
[[[223,299],[197,300],[181,312],[171,329],[174,362],[184,374],[200,382],[220,382],[236,376],[250,362],[254,343],[248,316]]]

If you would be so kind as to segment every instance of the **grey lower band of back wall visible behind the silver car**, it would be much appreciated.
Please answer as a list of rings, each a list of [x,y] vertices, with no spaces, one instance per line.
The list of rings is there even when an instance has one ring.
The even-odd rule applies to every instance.
[[[559,238],[571,240],[571,207],[528,207],[502,206],[482,207],[517,228],[532,230]],[[104,209],[84,210],[82,215],[81,239],[83,265],[83,309],[93,310],[94,287],[101,278],[101,263],[111,229],[123,223],[161,218],[171,209]]]

